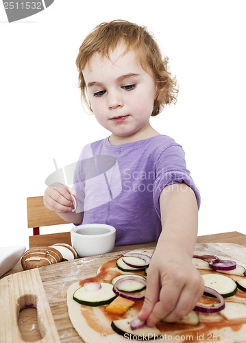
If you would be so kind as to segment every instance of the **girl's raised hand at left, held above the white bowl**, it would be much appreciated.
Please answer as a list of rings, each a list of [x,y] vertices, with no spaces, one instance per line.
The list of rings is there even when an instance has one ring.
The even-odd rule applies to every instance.
[[[57,213],[68,213],[73,210],[71,194],[76,197],[75,189],[56,183],[45,189],[44,204],[47,209]]]

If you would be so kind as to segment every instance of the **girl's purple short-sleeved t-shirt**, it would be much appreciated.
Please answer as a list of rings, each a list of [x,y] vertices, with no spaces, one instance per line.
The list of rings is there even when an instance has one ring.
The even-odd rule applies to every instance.
[[[108,138],[84,147],[75,169],[74,188],[83,224],[116,228],[116,246],[157,241],[161,232],[160,193],[184,182],[200,196],[184,150],[171,137],[159,135],[112,145]]]

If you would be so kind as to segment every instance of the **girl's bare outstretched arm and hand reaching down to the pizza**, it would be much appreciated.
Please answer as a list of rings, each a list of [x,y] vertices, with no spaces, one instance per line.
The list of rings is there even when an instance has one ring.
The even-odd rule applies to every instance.
[[[197,201],[190,187],[164,188],[160,195],[162,233],[149,265],[145,303],[139,314],[149,327],[175,322],[188,314],[204,292],[192,263],[197,239]]]

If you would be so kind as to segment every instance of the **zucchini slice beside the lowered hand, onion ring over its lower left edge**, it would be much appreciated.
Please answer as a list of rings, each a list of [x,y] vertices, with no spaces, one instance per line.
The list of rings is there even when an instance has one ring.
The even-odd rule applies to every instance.
[[[224,298],[234,296],[236,293],[236,283],[229,276],[222,274],[203,274],[201,277],[204,279],[204,285],[215,289]],[[211,296],[210,294],[204,294]]]

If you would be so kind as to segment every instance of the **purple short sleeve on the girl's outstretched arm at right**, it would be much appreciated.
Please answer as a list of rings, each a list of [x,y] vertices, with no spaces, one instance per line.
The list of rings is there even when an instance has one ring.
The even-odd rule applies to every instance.
[[[156,163],[156,180],[153,183],[153,202],[156,212],[160,217],[160,193],[164,187],[175,183],[185,183],[193,189],[197,198],[199,208],[201,198],[200,193],[190,176],[190,171],[186,168],[185,154],[181,145],[171,145],[167,147],[159,156]]]

